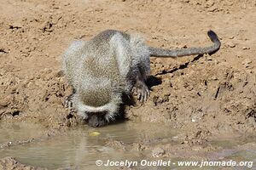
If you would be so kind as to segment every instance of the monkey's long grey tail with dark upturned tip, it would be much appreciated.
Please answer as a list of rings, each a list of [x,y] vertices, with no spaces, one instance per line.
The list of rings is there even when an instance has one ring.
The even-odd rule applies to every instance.
[[[182,57],[193,54],[212,54],[220,48],[221,43],[214,31],[210,30],[207,34],[213,42],[213,45],[206,48],[162,49],[149,47],[148,49],[150,51],[150,55],[155,57]]]

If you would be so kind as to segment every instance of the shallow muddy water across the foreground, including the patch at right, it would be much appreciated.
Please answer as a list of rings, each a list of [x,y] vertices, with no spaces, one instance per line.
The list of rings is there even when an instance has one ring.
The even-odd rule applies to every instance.
[[[11,147],[0,148],[0,158],[14,156],[18,161],[36,167],[55,169],[58,167],[72,167],[72,169],[99,169],[95,162],[98,159],[138,161],[143,159],[137,151],[113,149],[108,142],[122,141],[125,144],[150,143],[159,144],[160,139],[172,139],[177,135],[170,127],[152,123],[123,122],[102,128],[92,128],[86,125],[68,130],[65,133],[41,138],[47,132],[44,127],[30,123],[15,123],[5,125],[0,122],[0,146],[14,144]],[[160,128],[161,127],[161,128]],[[19,144],[19,141],[35,139],[31,143]],[[211,153],[209,160],[240,160],[256,162],[256,150],[249,141],[241,140],[215,140],[212,145],[223,150]],[[170,140],[168,140],[170,142]],[[247,144],[248,143],[248,144]],[[247,144],[234,148],[239,144]],[[251,144],[251,145],[250,145]],[[233,146],[233,147],[231,147]],[[253,145],[255,146],[255,145]],[[189,151],[189,150],[188,150]],[[188,161],[177,158],[177,161]],[[101,167],[104,169],[103,167]],[[174,169],[191,169],[191,167],[172,167]],[[165,167],[163,167],[165,169]],[[170,167],[166,168],[170,169]],[[195,168],[196,169],[196,168]],[[201,169],[222,169],[218,167],[203,167]],[[250,169],[250,168],[244,168]]]

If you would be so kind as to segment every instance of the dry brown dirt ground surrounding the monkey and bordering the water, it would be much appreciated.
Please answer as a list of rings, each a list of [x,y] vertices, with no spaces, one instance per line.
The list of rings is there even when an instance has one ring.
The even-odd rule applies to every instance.
[[[255,27],[252,0],[2,1],[0,119],[56,132],[82,123],[62,105],[71,88],[61,74],[61,54],[75,39],[116,29],[139,33],[154,47],[189,48],[210,45],[212,29],[222,42],[216,54],[151,59],[151,75],[161,81],[145,104],[126,106],[125,117],[168,123],[179,132],[176,146],[157,146],[165,150],[160,156],[216,150],[208,141],[220,136],[255,137]]]

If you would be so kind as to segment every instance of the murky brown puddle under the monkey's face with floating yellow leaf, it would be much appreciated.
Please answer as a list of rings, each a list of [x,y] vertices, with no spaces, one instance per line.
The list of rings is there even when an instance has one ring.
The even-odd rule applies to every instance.
[[[97,169],[95,161],[102,160],[138,160],[135,152],[114,150],[106,144],[115,139],[132,144],[150,139],[170,138],[173,133],[169,127],[159,129],[159,124],[119,123],[102,128],[88,126],[76,127],[66,133],[33,141],[30,144],[18,144],[0,149],[0,158],[15,156],[18,161],[36,167],[74,167],[78,169]],[[158,130],[159,129],[159,130]],[[9,132],[6,134],[6,132]],[[36,125],[14,125],[0,129],[0,144],[28,138],[36,138],[44,133]]]

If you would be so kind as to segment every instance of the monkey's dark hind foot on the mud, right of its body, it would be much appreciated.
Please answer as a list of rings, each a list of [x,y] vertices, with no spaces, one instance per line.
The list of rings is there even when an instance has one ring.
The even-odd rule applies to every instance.
[[[137,94],[137,99],[141,102],[145,102],[149,97],[149,90],[145,82],[137,81],[134,88],[132,89],[134,94]]]

